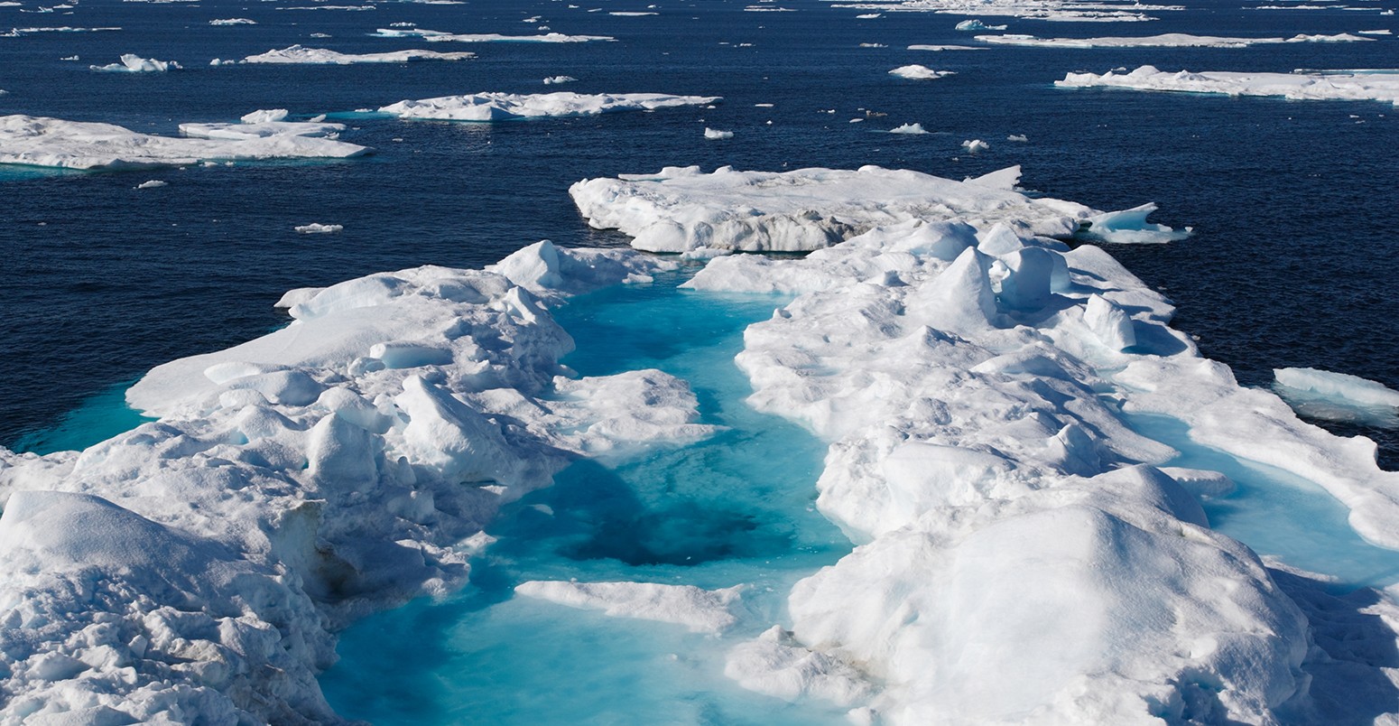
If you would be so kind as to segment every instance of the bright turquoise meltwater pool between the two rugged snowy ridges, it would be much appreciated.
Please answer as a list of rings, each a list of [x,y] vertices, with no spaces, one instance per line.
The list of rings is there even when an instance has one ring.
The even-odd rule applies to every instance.
[[[835,723],[723,677],[723,653],[782,622],[792,583],[849,543],[814,509],[825,446],[758,414],[733,364],[743,329],[785,302],[677,290],[681,276],[574,299],[557,318],[582,375],[660,368],[690,382],[695,446],[579,462],[509,506],[460,595],[418,600],[344,632],[320,680],[344,716],[378,723]],[[747,583],[725,638],[512,597],[532,579]]]

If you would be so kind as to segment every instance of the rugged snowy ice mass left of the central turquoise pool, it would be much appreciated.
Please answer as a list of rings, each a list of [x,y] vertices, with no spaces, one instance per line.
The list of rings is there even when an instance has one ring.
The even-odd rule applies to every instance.
[[[159,421],[0,449],[0,720],[339,722],[334,631],[460,586],[497,508],[569,459],[713,432],[667,373],[558,365],[546,298],[666,266],[539,243],[292,291],[288,327],[147,373],[129,401]],[[677,617],[722,625],[690,595]]]

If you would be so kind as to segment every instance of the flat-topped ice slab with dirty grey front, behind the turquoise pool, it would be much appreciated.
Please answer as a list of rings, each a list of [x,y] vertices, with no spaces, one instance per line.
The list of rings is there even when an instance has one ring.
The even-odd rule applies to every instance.
[[[667,166],[585,179],[568,192],[588,224],[621,229],[634,246],[652,252],[804,252],[911,220],[1004,221],[1023,234],[1065,236],[1101,214],[1013,192],[1018,171],[954,182],[879,166],[781,173]]]

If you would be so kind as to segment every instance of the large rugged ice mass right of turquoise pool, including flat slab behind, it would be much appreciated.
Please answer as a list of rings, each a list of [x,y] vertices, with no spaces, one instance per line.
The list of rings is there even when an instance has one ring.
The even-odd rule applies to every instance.
[[[1013,176],[965,183],[981,201],[963,214],[936,207],[921,175],[883,169],[669,169],[574,187],[595,224],[642,248],[684,249],[651,245],[655,225],[720,249],[788,238],[796,220],[846,225],[823,227],[832,246],[806,257],[722,256],[687,283],[796,295],[747,329],[737,362],[753,406],[830,442],[817,506],[862,543],[797,583],[790,629],[736,648],[727,673],[884,723],[1276,723],[1314,706],[1323,674],[1392,688],[1372,660],[1332,660],[1350,652],[1336,638],[1361,635],[1336,635],[1319,590],[1294,600],[1291,574],[1280,586],[1209,529],[1195,497],[1233,484],[1157,469],[1175,452],[1123,413],[1316,481],[1389,547],[1399,473],[1378,469],[1371,442],[1304,424],[1202,358],[1168,327],[1170,302],[1100,248],[1034,236],[1034,204],[1049,201],[1007,196]],[[929,203],[904,207],[897,190]],[[1396,614],[1364,597],[1377,600]],[[1329,632],[1326,653],[1311,632]]]

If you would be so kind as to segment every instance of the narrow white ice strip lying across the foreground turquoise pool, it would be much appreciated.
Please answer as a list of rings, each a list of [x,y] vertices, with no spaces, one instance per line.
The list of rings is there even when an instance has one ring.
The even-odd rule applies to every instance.
[[[602,610],[613,617],[655,620],[684,625],[694,632],[722,632],[739,618],[732,608],[743,585],[702,590],[691,585],[651,582],[523,582],[516,595],[569,607]]]

